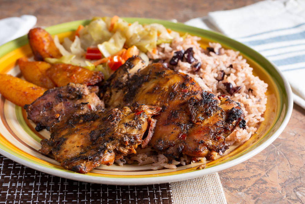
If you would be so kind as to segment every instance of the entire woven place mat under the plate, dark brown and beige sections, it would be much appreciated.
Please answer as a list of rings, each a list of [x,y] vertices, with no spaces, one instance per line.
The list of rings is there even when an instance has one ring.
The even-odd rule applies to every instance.
[[[49,175],[2,155],[0,193],[0,204],[226,203],[217,173],[170,184],[115,186]]]

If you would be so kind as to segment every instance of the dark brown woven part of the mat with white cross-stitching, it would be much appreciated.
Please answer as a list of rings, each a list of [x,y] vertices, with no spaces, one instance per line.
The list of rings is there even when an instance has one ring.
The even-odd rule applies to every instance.
[[[0,155],[0,203],[171,204],[170,184],[113,186],[60,178]]]

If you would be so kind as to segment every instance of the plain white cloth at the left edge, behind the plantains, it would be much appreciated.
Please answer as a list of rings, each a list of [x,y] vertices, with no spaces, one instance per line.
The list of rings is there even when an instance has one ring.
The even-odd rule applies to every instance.
[[[37,18],[31,15],[9,17],[0,20],[0,46],[19,38],[29,32],[37,22]]]

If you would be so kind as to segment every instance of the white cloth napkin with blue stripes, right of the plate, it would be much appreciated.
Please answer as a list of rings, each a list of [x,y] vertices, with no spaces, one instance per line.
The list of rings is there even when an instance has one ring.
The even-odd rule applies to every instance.
[[[305,109],[305,0],[266,0],[185,22],[215,30],[260,52],[283,72]]]

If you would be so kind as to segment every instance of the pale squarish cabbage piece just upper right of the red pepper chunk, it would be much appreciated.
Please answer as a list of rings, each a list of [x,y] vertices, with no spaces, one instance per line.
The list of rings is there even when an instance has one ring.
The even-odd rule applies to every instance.
[[[125,41],[126,38],[119,31],[117,31],[109,41],[98,44],[97,46],[104,57],[109,57],[110,55],[122,50]]]

